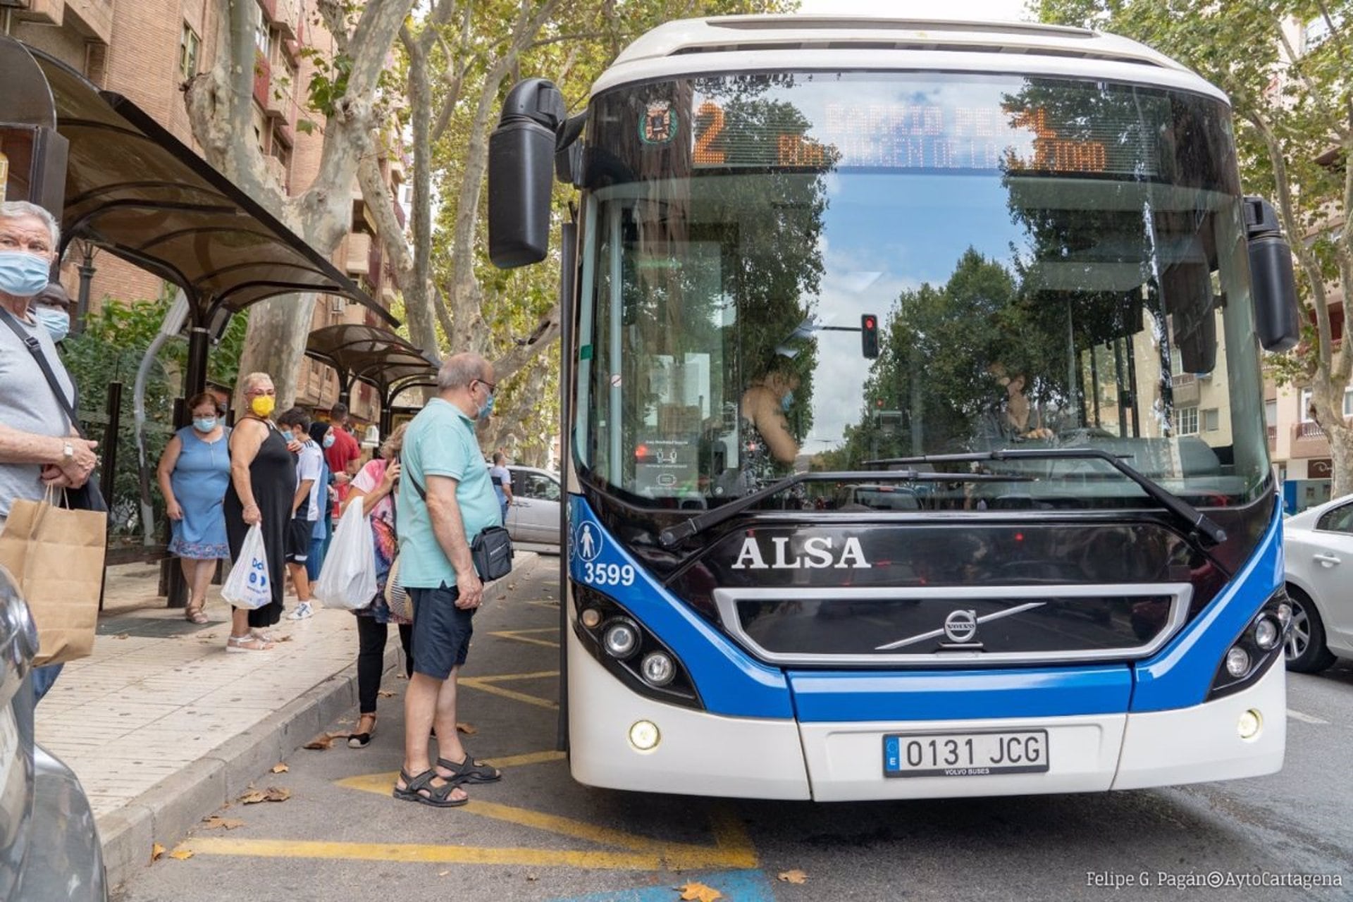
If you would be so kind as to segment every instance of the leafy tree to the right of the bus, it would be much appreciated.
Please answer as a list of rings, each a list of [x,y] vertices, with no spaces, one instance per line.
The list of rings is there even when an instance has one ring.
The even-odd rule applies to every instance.
[[[1334,494],[1353,491],[1353,430],[1342,400],[1353,348],[1353,3],[1349,0],[1039,0],[1043,22],[1146,43],[1231,99],[1245,189],[1273,199],[1291,238],[1306,316],[1296,352],[1270,360],[1280,380],[1310,383],[1330,437]],[[1321,39],[1307,39],[1307,35]],[[1341,322],[1344,323],[1341,329]]]

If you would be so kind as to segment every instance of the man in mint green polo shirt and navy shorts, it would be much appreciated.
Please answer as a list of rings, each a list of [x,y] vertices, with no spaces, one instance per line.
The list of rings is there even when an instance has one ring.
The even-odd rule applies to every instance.
[[[414,417],[399,454],[399,577],[414,607],[414,675],[405,694],[405,765],[394,795],[433,807],[468,802],[461,783],[502,774],[476,761],[456,732],[456,678],[469,650],[484,587],[469,556],[474,537],[502,514],[475,437],[494,406],[494,369],[479,354],[448,357],[437,396]],[[436,764],[428,745],[437,728]]]

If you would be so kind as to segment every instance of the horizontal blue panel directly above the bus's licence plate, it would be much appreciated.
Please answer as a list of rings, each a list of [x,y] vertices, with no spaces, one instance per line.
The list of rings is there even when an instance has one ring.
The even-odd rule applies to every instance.
[[[997,671],[790,671],[798,719],[957,721],[1122,714],[1132,696],[1124,664]]]

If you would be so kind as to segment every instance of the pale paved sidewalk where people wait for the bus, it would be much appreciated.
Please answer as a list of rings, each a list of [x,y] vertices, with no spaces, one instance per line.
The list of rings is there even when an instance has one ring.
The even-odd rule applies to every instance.
[[[356,719],[357,630],[346,611],[283,619],[284,641],[227,655],[230,607],[210,623],[157,598],[158,568],[108,569],[93,655],[66,664],[38,705],[38,742],[80,776],[110,884],[331,725]],[[288,613],[295,599],[288,596]],[[387,667],[398,640],[391,630]]]

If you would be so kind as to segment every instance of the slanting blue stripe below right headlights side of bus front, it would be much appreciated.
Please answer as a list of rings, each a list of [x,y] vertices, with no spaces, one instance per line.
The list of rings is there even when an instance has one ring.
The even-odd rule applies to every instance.
[[[1283,586],[1283,508],[1275,502],[1273,521],[1241,572],[1165,648],[1137,665],[1132,710],[1203,703],[1231,642]]]

